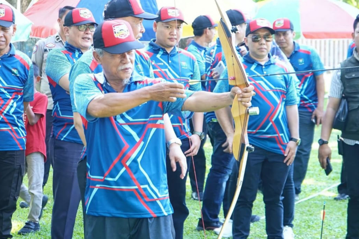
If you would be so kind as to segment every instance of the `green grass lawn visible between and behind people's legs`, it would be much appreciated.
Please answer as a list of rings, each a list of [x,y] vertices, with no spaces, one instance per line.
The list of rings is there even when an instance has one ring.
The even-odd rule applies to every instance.
[[[323,169],[321,169],[317,155],[318,144],[316,141],[320,138],[320,127],[316,128],[314,143],[312,148],[311,159],[309,161],[308,172],[306,180],[302,186],[302,193],[300,199],[311,196],[315,193],[321,192],[323,189],[330,187],[340,182],[341,156],[337,153],[336,135],[338,131],[332,132],[330,139],[330,147],[332,148],[332,166],[333,172],[326,176]],[[210,168],[211,145],[209,141],[205,145],[207,156],[207,171]],[[27,183],[27,178],[24,179]],[[28,209],[20,209],[13,215],[13,229],[12,233],[15,239],[50,239],[50,225],[51,225],[51,209],[52,209],[52,171],[49,181],[45,187],[45,194],[49,196],[47,208],[44,211],[43,218],[40,221],[41,231],[36,234],[28,236],[18,236],[17,231],[22,228],[27,220]],[[344,239],[346,233],[346,207],[348,201],[335,201],[333,197],[337,194],[337,188],[333,187],[328,191],[322,192],[320,195],[300,202],[295,206],[294,219],[294,233],[296,239],[319,239],[321,230],[321,210],[323,202],[326,202],[326,218],[323,229],[323,239]],[[19,200],[20,201],[20,200]],[[19,203],[18,201],[18,203]],[[201,217],[198,201],[191,199],[191,187],[189,179],[187,180],[187,205],[190,210],[190,215],[185,222],[185,239],[200,239],[205,238],[203,231],[195,230],[198,218]],[[221,212],[222,213],[222,212]],[[80,208],[77,213],[76,224],[74,229],[74,239],[83,238],[83,223]],[[262,195],[258,193],[257,200],[253,206],[253,214],[264,216],[264,203]],[[223,214],[220,216],[223,217]],[[206,231],[208,239],[215,239],[212,231]],[[265,220],[261,220],[251,225],[250,239],[264,239],[266,238]],[[114,238],[115,239],[115,238]]]

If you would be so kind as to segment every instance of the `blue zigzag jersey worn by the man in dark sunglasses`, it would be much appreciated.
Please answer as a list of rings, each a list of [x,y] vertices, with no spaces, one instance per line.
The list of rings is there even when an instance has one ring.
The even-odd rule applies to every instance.
[[[249,56],[243,57],[243,66],[248,75],[288,72],[284,64],[271,57],[264,66]],[[228,77],[227,69],[222,74]],[[259,115],[250,116],[248,121],[249,143],[270,152],[284,154],[290,133],[285,106],[298,103],[293,77],[288,75],[250,77],[256,95],[252,106],[259,107]],[[218,81],[213,92],[228,92],[232,86],[228,81]]]

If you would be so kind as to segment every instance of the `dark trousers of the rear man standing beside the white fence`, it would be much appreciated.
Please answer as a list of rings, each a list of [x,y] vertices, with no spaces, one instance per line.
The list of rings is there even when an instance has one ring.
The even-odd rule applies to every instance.
[[[312,112],[299,111],[300,145],[294,160],[293,180],[295,194],[301,192],[301,185],[306,177],[309,157],[311,155],[315,124],[311,120]]]

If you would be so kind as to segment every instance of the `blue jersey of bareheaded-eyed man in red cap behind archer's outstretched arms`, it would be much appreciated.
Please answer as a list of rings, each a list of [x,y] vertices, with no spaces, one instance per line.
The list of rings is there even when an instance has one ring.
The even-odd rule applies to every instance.
[[[182,83],[185,89],[192,91],[201,90],[201,80],[196,58],[183,49],[177,51],[174,47],[170,53],[151,40],[146,53],[150,56],[155,77],[161,77],[167,81]],[[192,83],[193,81],[197,81]],[[174,133],[180,139],[189,137],[190,124],[183,116],[169,115]]]

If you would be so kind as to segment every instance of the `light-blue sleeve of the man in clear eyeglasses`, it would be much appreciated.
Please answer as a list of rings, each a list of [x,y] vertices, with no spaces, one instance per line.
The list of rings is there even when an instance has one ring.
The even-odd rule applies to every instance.
[[[58,49],[53,49],[47,56],[46,75],[57,84],[62,76],[70,73],[71,63],[67,60],[64,53]]]

